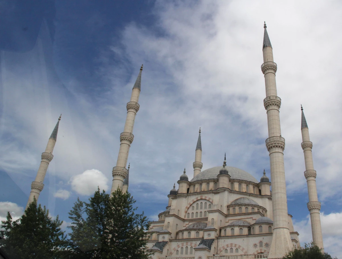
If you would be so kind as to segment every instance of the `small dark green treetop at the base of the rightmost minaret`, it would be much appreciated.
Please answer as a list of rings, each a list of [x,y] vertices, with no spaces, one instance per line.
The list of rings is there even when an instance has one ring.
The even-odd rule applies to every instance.
[[[304,249],[293,249],[283,259],[332,259],[328,253],[322,253],[314,243],[305,244]],[[336,258],[337,259],[337,258]]]

